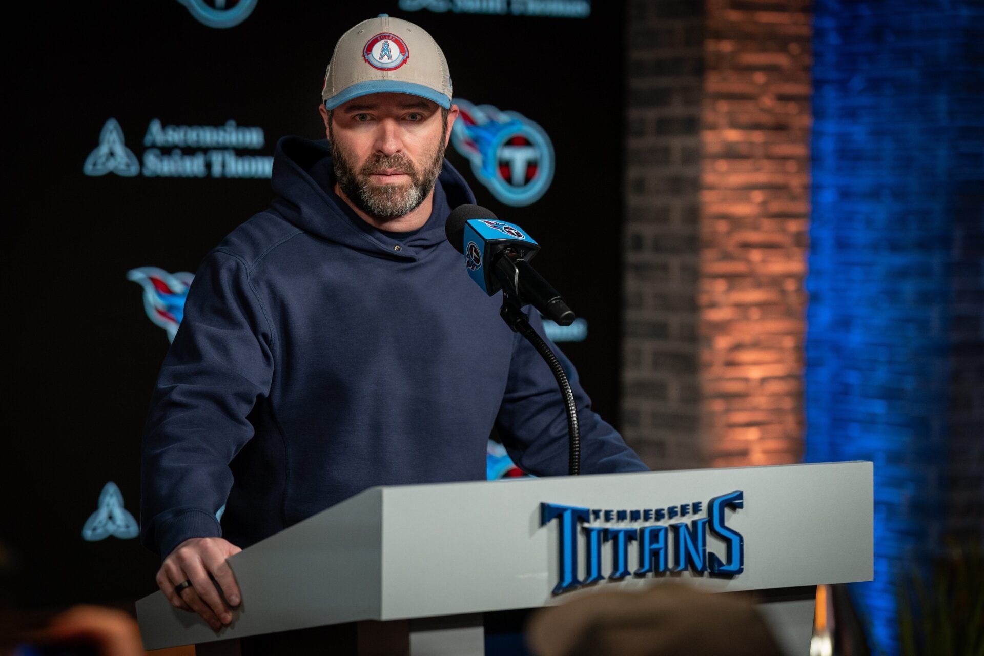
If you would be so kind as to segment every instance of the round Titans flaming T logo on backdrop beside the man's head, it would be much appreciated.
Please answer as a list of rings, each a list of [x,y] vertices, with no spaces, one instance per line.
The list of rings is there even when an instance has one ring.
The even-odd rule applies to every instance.
[[[501,203],[531,205],[553,181],[554,152],[539,125],[515,111],[456,99],[461,116],[451,129],[455,149]]]

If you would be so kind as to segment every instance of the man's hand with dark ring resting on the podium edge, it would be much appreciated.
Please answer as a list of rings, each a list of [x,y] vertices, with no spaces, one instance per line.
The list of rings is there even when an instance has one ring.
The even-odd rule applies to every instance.
[[[241,551],[222,538],[189,538],[164,559],[157,571],[157,585],[173,606],[198,613],[217,631],[232,622],[232,612],[218,594],[209,574],[215,576],[229,605],[238,606],[239,585],[225,559]],[[189,579],[191,587],[174,591],[175,585]]]

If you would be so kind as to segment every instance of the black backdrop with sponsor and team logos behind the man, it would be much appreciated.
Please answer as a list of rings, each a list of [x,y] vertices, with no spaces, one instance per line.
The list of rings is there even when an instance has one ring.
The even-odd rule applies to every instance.
[[[335,41],[380,12],[431,32],[456,97],[518,111],[552,140],[553,183],[523,208],[495,201],[454,149],[448,157],[480,205],[544,245],[539,270],[589,324],[584,342],[562,347],[594,407],[616,423],[621,11],[621,3],[596,2],[589,17],[571,19],[403,12],[397,0],[259,0],[229,29],[203,25],[176,0],[64,3],[35,13],[15,35],[6,76],[7,109],[16,115],[6,176],[13,422],[4,541],[20,558],[20,603],[154,591],[158,560],[138,539],[93,542],[81,533],[107,481],[139,520],[140,436],[168,340],[126,272],[195,271],[272,199],[268,179],[86,175],[103,126],[116,119],[138,159],[153,119],[263,128],[263,148],[239,154],[270,156],[282,135],[324,138],[317,107]]]

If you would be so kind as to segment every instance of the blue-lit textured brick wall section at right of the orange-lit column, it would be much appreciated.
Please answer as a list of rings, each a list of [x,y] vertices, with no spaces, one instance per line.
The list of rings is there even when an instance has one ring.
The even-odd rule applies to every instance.
[[[875,581],[853,592],[889,654],[897,572],[927,563],[947,519],[954,171],[968,92],[978,125],[984,113],[975,32],[978,3],[816,6],[806,459],[875,462]]]

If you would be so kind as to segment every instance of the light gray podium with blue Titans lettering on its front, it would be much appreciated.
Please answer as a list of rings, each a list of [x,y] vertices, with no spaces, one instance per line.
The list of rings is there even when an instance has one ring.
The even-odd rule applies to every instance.
[[[232,556],[231,625],[159,591],[137,615],[149,650],[484,654],[501,612],[673,577],[756,591],[784,650],[807,654],[815,586],[873,577],[872,476],[854,461],[372,488]]]

